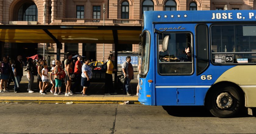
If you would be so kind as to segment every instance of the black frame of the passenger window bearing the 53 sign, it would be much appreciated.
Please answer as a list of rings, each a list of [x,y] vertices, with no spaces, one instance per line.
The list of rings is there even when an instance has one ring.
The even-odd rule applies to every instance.
[[[209,45],[210,45],[210,62],[212,63],[212,65],[256,65],[256,63],[214,63],[212,61],[212,55],[213,54],[256,54],[256,52],[212,52],[212,26],[227,26],[227,25],[254,25],[256,26],[255,23],[212,23],[209,26]]]

